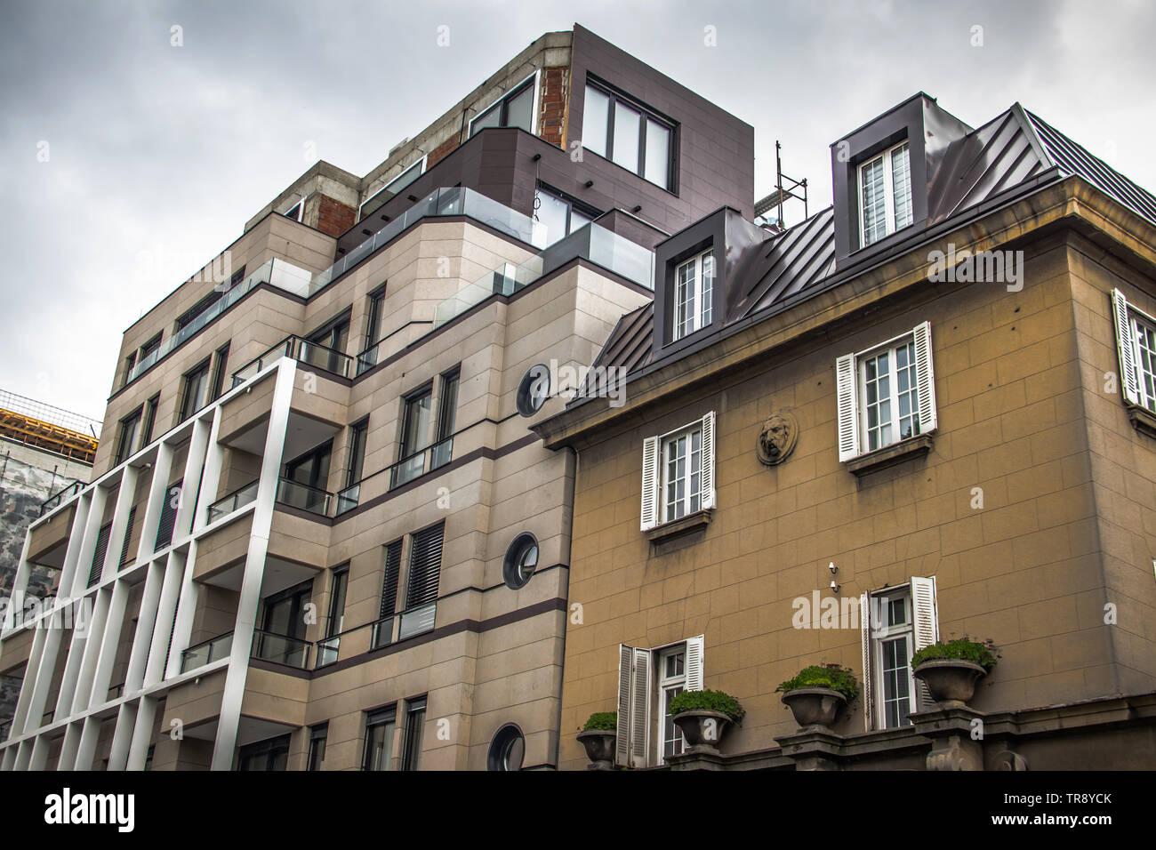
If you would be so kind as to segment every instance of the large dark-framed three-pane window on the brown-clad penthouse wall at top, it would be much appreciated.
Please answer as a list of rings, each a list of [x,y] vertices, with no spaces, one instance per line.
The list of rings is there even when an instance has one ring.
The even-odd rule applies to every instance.
[[[637,101],[586,83],[583,147],[673,191],[674,124]]]

